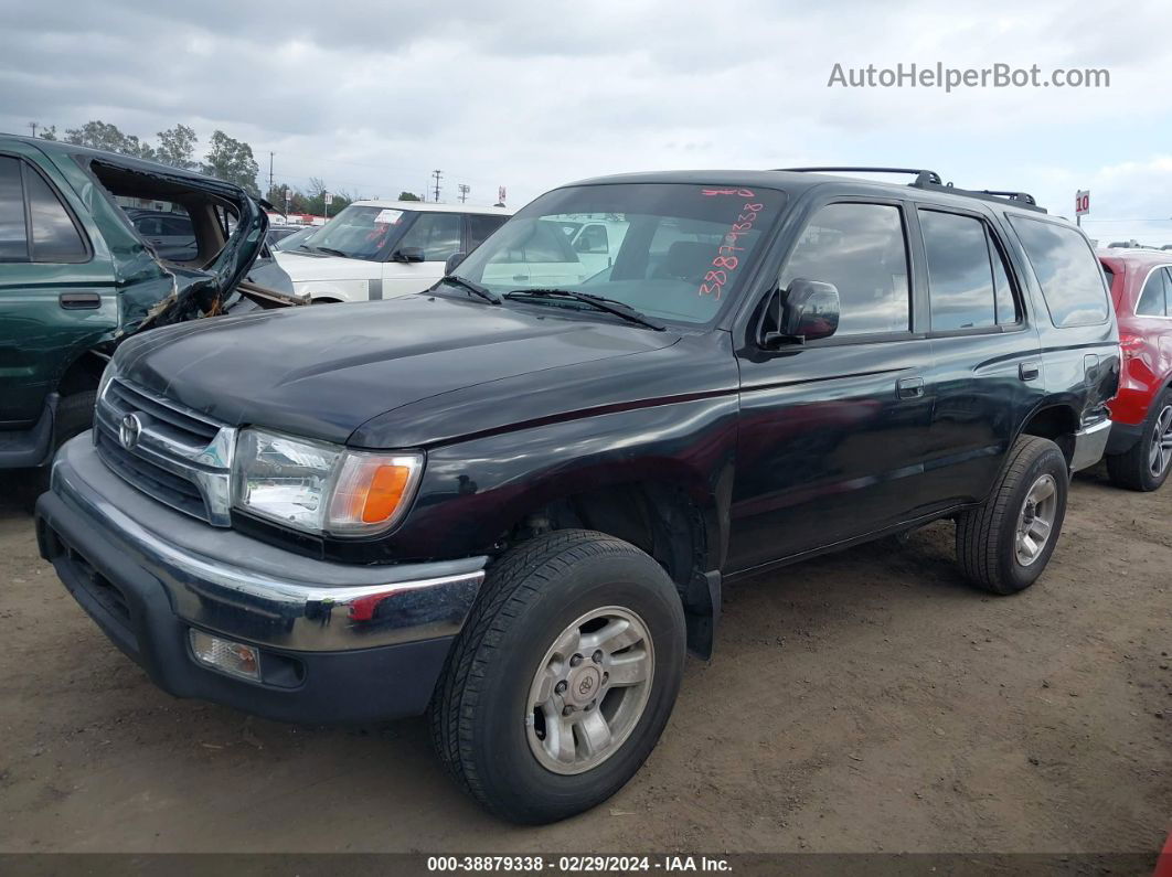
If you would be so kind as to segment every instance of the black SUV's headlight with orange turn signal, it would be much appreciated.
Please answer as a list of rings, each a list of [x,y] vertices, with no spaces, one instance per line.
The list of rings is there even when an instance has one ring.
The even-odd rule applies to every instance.
[[[422,472],[422,454],[350,451],[244,430],[232,473],[234,505],[309,533],[377,533],[402,518]]]

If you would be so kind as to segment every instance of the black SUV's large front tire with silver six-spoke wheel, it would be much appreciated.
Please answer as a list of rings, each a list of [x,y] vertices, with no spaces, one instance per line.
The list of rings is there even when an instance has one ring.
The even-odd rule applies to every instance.
[[[604,655],[597,666],[601,650],[580,656],[573,666],[574,657],[564,656],[560,663],[558,643],[577,642],[577,633],[563,637],[592,612],[608,614],[605,630],[625,630],[632,637],[642,630],[647,638],[614,657]],[[628,628],[612,618],[615,614],[626,614]],[[566,651],[588,650],[590,637],[582,633],[580,644]],[[609,642],[621,644],[618,638]],[[639,770],[675,705],[684,652],[683,607],[654,560],[602,533],[544,534],[491,568],[432,696],[432,742],[456,782],[497,816],[526,824],[564,820],[601,803]],[[629,665],[632,658],[649,678],[607,687],[605,667],[618,677],[620,662]],[[554,688],[550,681],[541,691],[551,699],[540,700],[544,693],[534,694],[543,684],[538,671],[558,665],[570,674],[563,679],[570,687]],[[587,678],[598,687],[588,688]],[[558,696],[561,700],[552,699],[554,691],[565,692]],[[602,694],[590,707],[586,697],[597,691]],[[575,692],[586,692],[577,706]],[[591,755],[574,729],[561,740],[584,760],[558,761],[546,752],[546,741],[554,745],[563,720],[551,719],[546,726],[534,703],[565,704],[572,715],[566,721],[584,724],[609,711],[613,746]],[[624,724],[626,734],[620,733]]]

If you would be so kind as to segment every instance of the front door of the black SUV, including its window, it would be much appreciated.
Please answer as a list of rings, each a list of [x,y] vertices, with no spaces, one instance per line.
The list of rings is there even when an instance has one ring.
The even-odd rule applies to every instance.
[[[901,200],[831,203],[782,268],[833,283],[838,331],[741,351],[728,571],[832,546],[920,514],[932,345],[919,331]]]

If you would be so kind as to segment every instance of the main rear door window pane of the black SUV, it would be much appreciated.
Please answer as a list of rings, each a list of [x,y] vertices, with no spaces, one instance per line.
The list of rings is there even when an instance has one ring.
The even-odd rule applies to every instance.
[[[993,263],[984,224],[956,213],[920,211],[928,260],[932,330],[997,324]]]

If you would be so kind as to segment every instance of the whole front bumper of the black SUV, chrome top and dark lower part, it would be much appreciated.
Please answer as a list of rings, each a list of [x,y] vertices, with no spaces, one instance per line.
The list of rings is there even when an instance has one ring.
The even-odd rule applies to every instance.
[[[177,697],[289,721],[427,708],[484,557],[352,567],[218,530],[138,493],[89,433],[36,503],[41,555],[105,635]],[[255,646],[260,681],[197,663],[191,629]]]

